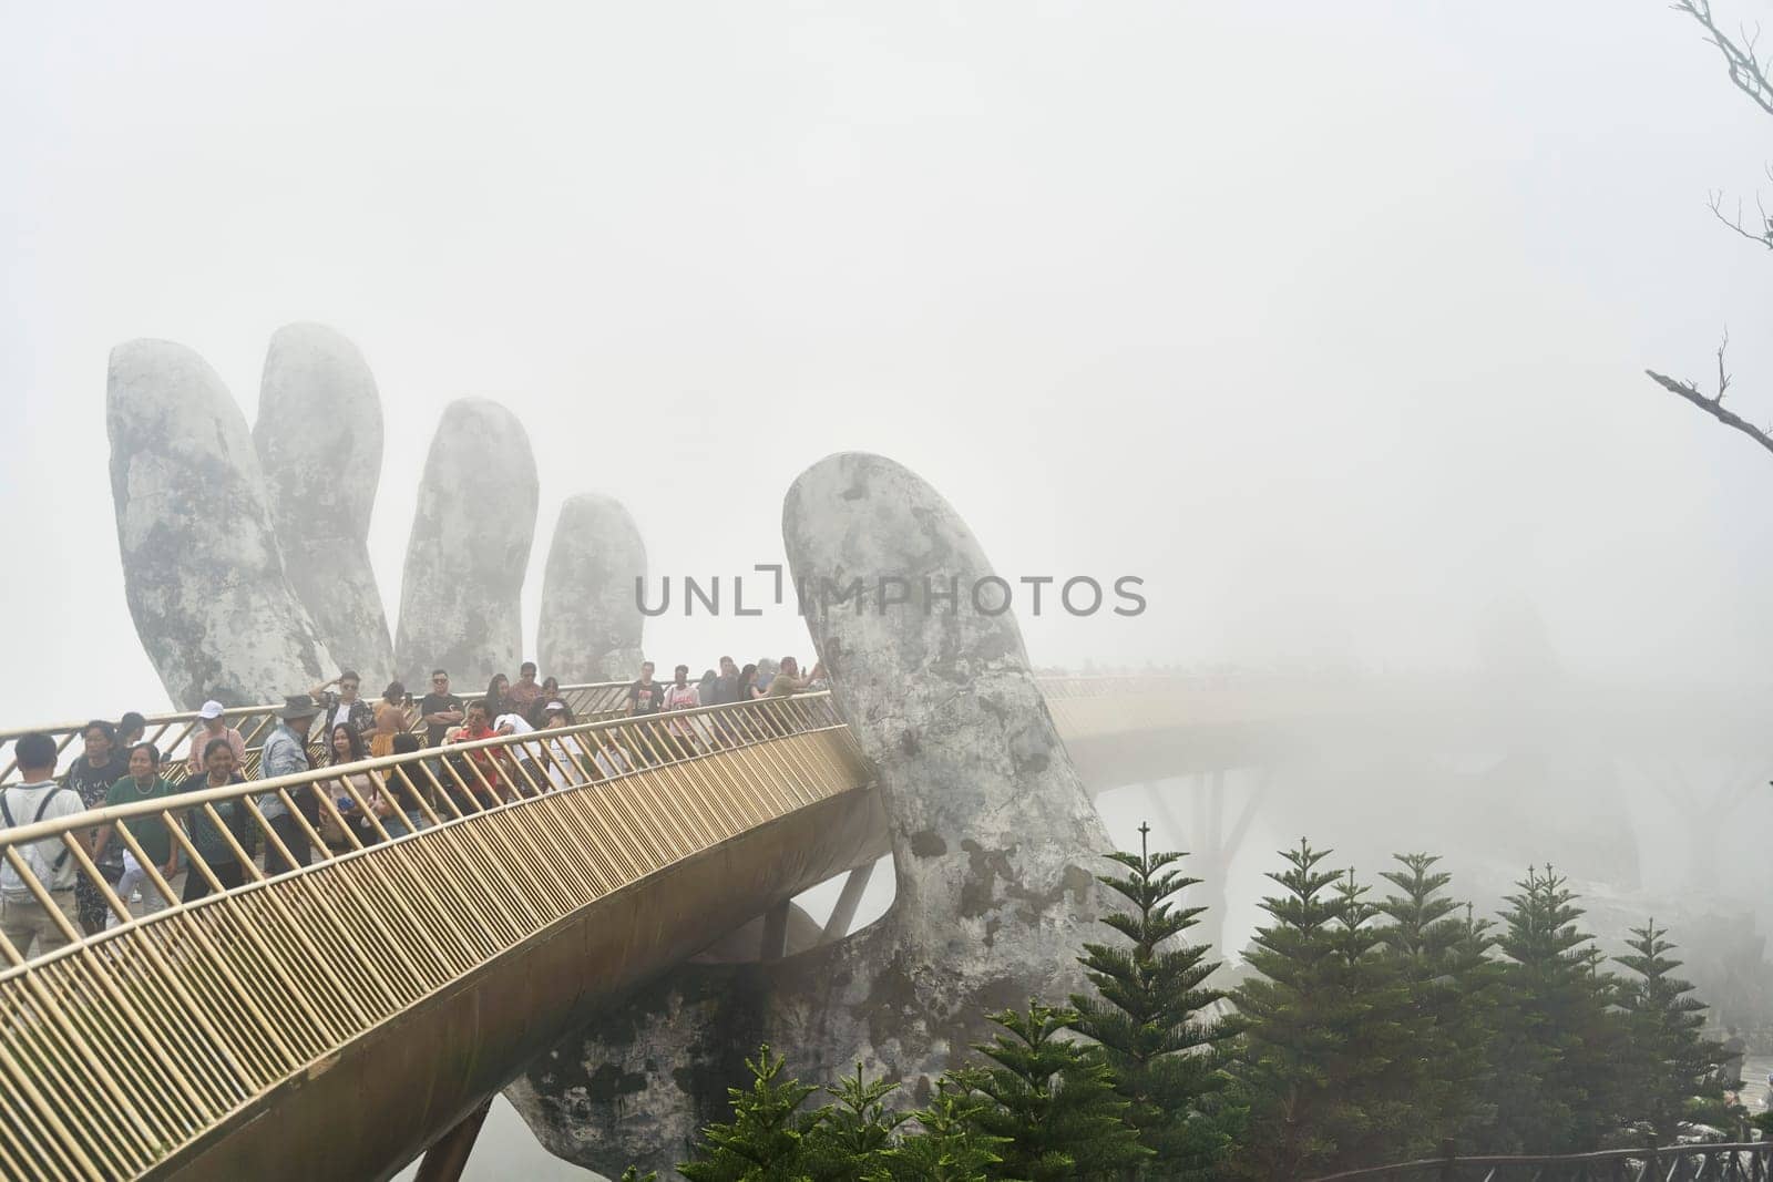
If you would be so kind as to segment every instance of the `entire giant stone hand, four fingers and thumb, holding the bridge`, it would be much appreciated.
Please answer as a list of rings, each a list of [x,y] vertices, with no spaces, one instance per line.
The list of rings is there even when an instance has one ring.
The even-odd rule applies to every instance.
[[[273,340],[264,381],[254,448],[195,353],[112,353],[124,581],[174,700],[273,700],[340,659],[406,677],[440,663],[463,684],[509,670],[535,517],[521,425],[479,400],[445,411],[390,657],[365,548],[381,422],[369,369],[330,330],[293,326]],[[495,482],[479,475],[489,470]],[[794,576],[814,590],[808,624],[837,705],[878,771],[897,897],[865,932],[810,950],[816,925],[793,914],[800,953],[775,962],[720,964],[755,939],[736,936],[511,1088],[553,1152],[612,1175],[635,1159],[670,1170],[723,1115],[762,1040],[808,1077],[862,1060],[906,1081],[904,1099],[926,1097],[984,1035],[984,1014],[1080,984],[1073,957],[1101,907],[1087,870],[1106,847],[1101,820],[1014,618],[972,604],[991,567],[959,516],[899,464],[842,454],[794,482],[782,525]],[[644,564],[621,505],[569,502],[546,569],[544,663],[594,677],[631,659],[640,613],[628,595]],[[904,579],[910,603],[878,599],[881,576]],[[862,601],[824,603],[823,587],[855,578]]]

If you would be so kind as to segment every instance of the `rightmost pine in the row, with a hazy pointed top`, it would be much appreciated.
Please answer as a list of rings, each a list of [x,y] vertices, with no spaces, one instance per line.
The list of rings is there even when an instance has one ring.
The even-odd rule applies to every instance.
[[[1629,1088],[1626,1111],[1674,1139],[1681,1120],[1723,1116],[1723,1092],[1741,1088],[1741,1079],[1723,1077],[1722,1044],[1700,1037],[1706,1003],[1691,996],[1691,984],[1674,976],[1681,962],[1668,959],[1674,945],[1663,939],[1667,934],[1656,920],[1631,929],[1635,939],[1626,941],[1631,955],[1613,959],[1636,973],[1617,992],[1631,1031],[1629,1067],[1622,1072]]]

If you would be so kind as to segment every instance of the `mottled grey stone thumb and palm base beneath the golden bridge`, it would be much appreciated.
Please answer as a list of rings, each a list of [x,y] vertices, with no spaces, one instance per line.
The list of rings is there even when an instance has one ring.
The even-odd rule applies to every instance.
[[[879,774],[897,897],[865,932],[769,964],[683,966],[509,1090],[555,1154],[608,1175],[670,1170],[727,1108],[759,1042],[803,1079],[855,1061],[904,1081],[906,1102],[986,1035],[984,1015],[1080,985],[1074,957],[1101,907],[1106,833],[1053,730],[1009,613],[970,587],[984,553],[911,471],[832,455],[789,491],[782,533],[833,693]],[[881,576],[917,588],[879,610]],[[926,615],[922,579],[961,581]],[[819,579],[855,601],[821,604]],[[986,606],[996,606],[986,597]]]

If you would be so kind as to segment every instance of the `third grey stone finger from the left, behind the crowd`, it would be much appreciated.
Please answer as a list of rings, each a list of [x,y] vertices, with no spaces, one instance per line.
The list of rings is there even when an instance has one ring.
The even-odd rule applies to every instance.
[[[394,649],[408,686],[434,666],[461,686],[516,677],[539,496],[530,438],[511,411],[486,399],[443,409],[401,579]]]

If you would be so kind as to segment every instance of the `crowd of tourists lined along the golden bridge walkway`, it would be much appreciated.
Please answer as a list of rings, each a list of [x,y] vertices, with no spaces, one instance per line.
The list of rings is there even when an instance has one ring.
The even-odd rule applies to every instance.
[[[216,886],[229,890],[246,881],[241,854],[255,858],[261,845],[254,808],[275,836],[264,844],[264,872],[282,874],[312,861],[316,836],[333,849],[371,845],[422,829],[433,819],[491,808],[527,794],[530,785],[537,790],[567,787],[569,769],[574,767],[583,778],[596,780],[658,758],[651,744],[637,743],[629,750],[612,737],[590,734],[543,735],[535,755],[496,744],[449,751],[500,735],[571,727],[574,718],[560,695],[560,682],[553,677],[537,680],[537,672],[534,661],[525,661],[518,680],[500,673],[484,695],[465,700],[452,693],[449,670],[438,668],[431,670],[429,693],[417,702],[395,680],[371,704],[362,696],[362,677],[346,670],[284,700],[277,725],[259,748],[259,780],[426,748],[436,748],[438,758],[401,764],[390,769],[394,774],[365,769],[294,790],[269,789],[252,803],[234,796],[188,806],[177,810],[172,822],[179,826],[183,842],[160,815],[122,822],[128,840],[108,824],[76,833],[74,840],[117,898],[135,913],[152,914],[167,907],[152,875],[170,884],[184,874],[183,902],[202,898]],[[794,657],[782,657],[780,663],[762,659],[743,668],[732,657],[720,657],[718,670],[706,670],[697,680],[690,680],[690,666],[679,665],[668,682],[656,680],[652,661],[644,661],[640,675],[626,689],[624,712],[649,718],[823,688],[824,670],[814,665],[803,675]],[[686,751],[723,746],[734,734],[702,716],[663,721],[661,737]],[[424,743],[415,734],[420,725]],[[135,711],[117,723],[92,719],[80,732],[80,757],[60,778],[55,774],[60,755],[55,739],[46,734],[21,735],[14,744],[20,780],[0,789],[0,824],[16,828],[106,805],[246,783],[246,739],[229,725],[220,702],[204,702],[197,711],[183,760],[145,743],[145,734],[147,719]],[[80,874],[66,842],[44,838],[16,849],[69,929],[96,934],[119,923],[98,883]],[[188,865],[190,854],[202,859],[200,870]],[[64,925],[11,861],[0,861],[0,932],[25,957],[67,943]]]

